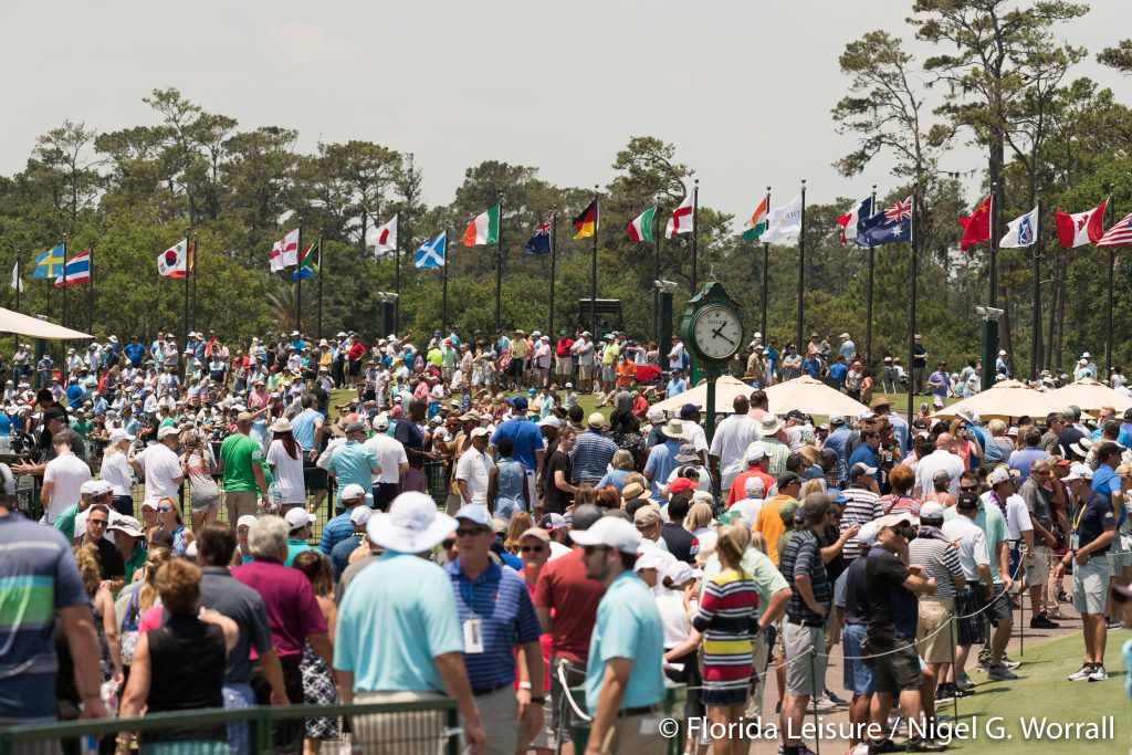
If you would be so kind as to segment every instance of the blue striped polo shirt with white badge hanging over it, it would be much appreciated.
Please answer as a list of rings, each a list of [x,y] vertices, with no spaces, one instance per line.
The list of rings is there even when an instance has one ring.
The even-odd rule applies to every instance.
[[[460,623],[480,620],[482,653],[464,653],[472,689],[501,687],[515,680],[515,645],[538,642],[542,629],[526,580],[509,566],[490,561],[483,574],[469,580],[460,559],[444,567],[456,595]]]

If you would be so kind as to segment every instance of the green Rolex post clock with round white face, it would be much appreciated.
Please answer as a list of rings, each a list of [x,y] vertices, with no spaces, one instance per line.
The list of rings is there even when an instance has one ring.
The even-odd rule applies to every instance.
[[[723,375],[731,358],[743,348],[743,317],[739,304],[719,283],[705,283],[688,299],[680,320],[680,338],[692,361],[707,380],[707,443],[715,435],[715,378]]]

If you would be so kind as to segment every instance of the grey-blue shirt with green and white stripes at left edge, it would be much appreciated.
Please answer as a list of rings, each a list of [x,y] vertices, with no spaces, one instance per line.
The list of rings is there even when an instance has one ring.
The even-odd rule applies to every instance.
[[[0,726],[58,715],[55,612],[87,602],[60,532],[22,514],[0,516]]]

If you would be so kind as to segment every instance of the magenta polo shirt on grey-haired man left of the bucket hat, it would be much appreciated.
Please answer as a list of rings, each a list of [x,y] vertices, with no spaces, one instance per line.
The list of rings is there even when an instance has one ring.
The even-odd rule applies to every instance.
[[[307,636],[327,632],[310,581],[299,569],[283,566],[277,558],[257,556],[232,569],[232,576],[263,597],[280,658],[301,658]]]

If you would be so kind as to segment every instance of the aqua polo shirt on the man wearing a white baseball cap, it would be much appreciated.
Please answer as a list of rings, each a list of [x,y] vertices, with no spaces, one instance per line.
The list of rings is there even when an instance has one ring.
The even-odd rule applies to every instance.
[[[598,624],[590,636],[585,669],[585,705],[598,714],[606,663],[629,659],[633,667],[618,710],[655,705],[664,698],[664,629],[649,586],[632,572],[623,572],[598,604]]]

